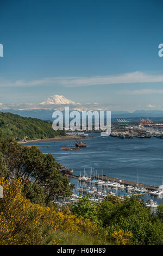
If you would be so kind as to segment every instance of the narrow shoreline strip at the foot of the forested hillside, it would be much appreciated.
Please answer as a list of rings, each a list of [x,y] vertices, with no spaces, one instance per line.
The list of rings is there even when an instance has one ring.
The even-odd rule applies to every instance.
[[[82,141],[83,139],[86,139],[87,137],[80,137],[77,135],[67,135],[67,136],[59,136],[55,138],[47,138],[47,139],[32,139],[30,141],[26,142],[18,142],[21,144],[26,144],[26,143],[32,143],[32,142],[58,142],[58,141]]]

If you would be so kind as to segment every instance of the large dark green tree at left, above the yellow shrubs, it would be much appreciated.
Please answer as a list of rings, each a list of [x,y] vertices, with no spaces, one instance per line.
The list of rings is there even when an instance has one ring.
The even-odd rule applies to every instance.
[[[5,179],[21,178],[24,192],[32,202],[49,203],[72,193],[70,180],[61,174],[60,164],[52,154],[44,155],[36,147],[18,144],[0,134],[0,176]]]

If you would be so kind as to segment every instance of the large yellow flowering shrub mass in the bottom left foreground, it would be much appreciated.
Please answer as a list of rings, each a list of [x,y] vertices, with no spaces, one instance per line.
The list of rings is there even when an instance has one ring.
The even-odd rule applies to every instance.
[[[21,179],[0,179],[4,197],[0,199],[0,245],[42,245],[57,229],[97,234],[97,226],[83,217],[58,212],[55,208],[32,204],[22,196]],[[59,245],[60,240],[53,241]]]

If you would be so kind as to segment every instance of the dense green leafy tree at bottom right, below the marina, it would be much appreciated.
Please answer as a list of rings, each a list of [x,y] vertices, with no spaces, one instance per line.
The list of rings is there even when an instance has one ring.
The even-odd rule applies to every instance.
[[[97,211],[98,220],[102,221],[109,235],[121,229],[133,234],[130,243],[134,245],[161,245],[163,242],[161,221],[151,214],[140,198],[132,196],[116,204],[104,201]]]

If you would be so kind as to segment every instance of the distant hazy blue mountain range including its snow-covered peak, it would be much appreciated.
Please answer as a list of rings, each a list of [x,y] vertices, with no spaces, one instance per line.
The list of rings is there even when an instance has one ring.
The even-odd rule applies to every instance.
[[[22,117],[40,118],[42,120],[53,120],[52,114],[54,111],[64,111],[65,107],[69,107],[70,111],[101,111],[110,110],[106,103],[85,102],[79,103],[67,99],[63,95],[52,95],[47,100],[40,103],[0,103],[2,112],[10,112],[21,115]],[[159,110],[136,110],[133,113],[128,111],[111,111],[112,118],[152,118],[163,117],[163,111]]]

